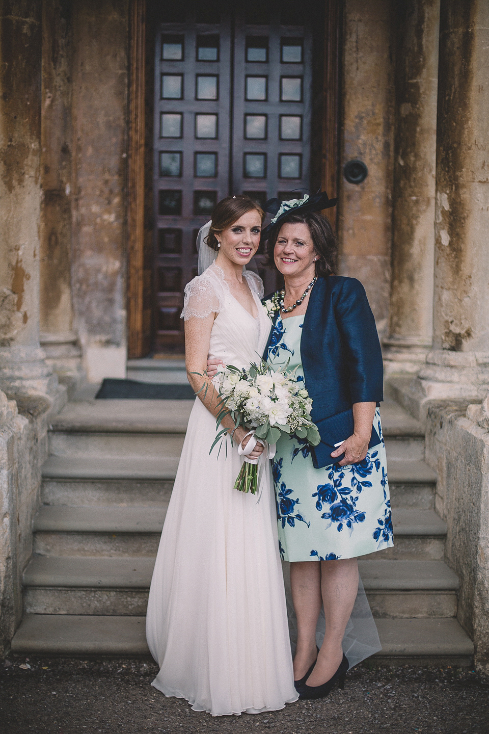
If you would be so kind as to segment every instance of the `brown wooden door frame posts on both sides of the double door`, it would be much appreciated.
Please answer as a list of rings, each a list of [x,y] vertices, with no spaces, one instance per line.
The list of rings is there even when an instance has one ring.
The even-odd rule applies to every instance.
[[[128,357],[150,351],[151,322],[147,307],[145,255],[146,159],[146,23],[147,0],[130,0],[128,90]],[[325,0],[321,184],[337,195],[339,180],[339,93],[342,48],[342,0]],[[336,208],[326,211],[336,224]]]

